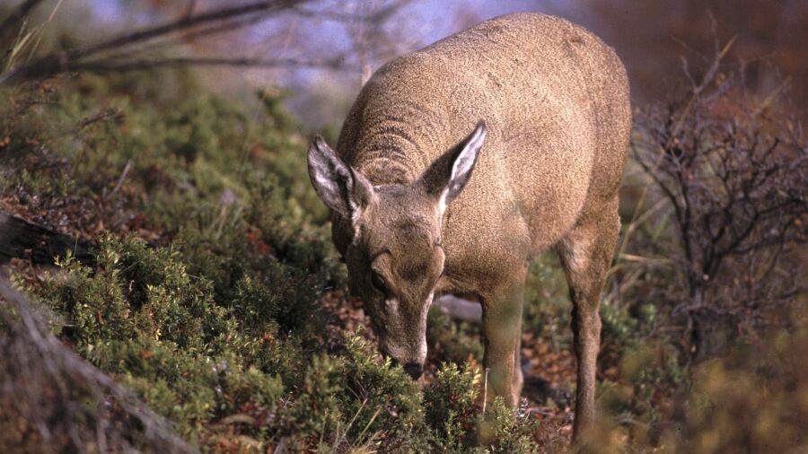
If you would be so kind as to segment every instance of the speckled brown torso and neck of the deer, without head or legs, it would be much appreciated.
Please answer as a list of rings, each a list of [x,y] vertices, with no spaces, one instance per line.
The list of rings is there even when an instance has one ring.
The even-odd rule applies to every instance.
[[[383,66],[338,153],[374,183],[405,183],[480,118],[486,143],[449,206],[447,249],[535,253],[616,193],[630,129],[625,70],[600,39],[541,14],[483,22]]]

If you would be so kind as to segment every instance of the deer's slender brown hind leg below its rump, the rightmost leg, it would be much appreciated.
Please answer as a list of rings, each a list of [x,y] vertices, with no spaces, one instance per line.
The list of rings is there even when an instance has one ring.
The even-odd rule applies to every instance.
[[[573,440],[581,442],[595,417],[595,370],[601,345],[601,292],[620,231],[615,196],[602,209],[584,214],[558,242],[573,302],[572,329],[578,361]]]

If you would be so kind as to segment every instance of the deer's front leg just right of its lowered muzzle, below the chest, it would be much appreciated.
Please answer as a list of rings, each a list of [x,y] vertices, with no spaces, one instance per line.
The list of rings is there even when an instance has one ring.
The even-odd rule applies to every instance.
[[[505,286],[482,298],[482,331],[486,347],[487,398],[499,396],[516,406],[522,394],[519,348],[522,336],[524,283]]]

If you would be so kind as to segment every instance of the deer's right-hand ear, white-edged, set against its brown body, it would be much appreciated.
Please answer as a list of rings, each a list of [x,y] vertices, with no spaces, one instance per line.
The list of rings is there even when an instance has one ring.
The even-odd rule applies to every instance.
[[[435,197],[441,212],[466,187],[485,140],[486,124],[480,120],[468,137],[436,159],[421,175],[418,184],[428,196]]]

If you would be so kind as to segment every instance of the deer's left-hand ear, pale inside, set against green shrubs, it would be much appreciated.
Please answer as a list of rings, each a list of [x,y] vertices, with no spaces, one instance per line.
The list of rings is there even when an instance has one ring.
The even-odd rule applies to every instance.
[[[373,198],[373,185],[341,159],[321,136],[309,148],[309,178],[325,205],[356,221]]]

